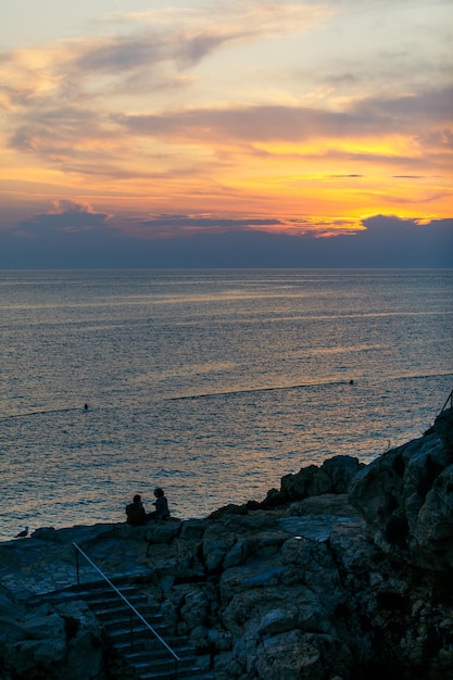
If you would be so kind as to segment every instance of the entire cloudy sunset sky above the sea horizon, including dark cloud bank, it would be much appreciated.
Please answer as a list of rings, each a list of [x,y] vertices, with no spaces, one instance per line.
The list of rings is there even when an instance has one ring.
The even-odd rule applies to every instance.
[[[453,0],[2,0],[0,267],[453,267]]]

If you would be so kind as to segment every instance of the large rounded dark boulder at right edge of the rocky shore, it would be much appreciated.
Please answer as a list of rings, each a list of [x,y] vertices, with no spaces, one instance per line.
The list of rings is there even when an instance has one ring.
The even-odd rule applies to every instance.
[[[453,567],[452,489],[453,457],[435,431],[370,463],[349,500],[383,551],[442,570]]]

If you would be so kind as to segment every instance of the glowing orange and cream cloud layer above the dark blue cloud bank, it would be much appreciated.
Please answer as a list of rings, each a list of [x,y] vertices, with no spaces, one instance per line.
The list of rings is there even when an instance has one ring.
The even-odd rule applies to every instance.
[[[137,217],[128,228],[139,239],[211,228],[325,236],[379,211],[419,214],[424,202],[450,214],[446,4],[156,4],[99,18],[89,37],[0,54],[5,172],[49,182],[46,198],[17,190],[21,210],[37,214],[24,232],[63,219],[38,207],[49,196],[90,197],[100,215],[115,206]],[[262,224],[242,222],[253,211]],[[143,217],[159,212],[190,215]],[[91,224],[91,236],[113,224]]]

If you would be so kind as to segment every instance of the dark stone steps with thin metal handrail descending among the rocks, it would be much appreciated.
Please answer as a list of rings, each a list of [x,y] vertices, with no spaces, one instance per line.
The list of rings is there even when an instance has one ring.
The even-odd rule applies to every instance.
[[[203,668],[206,664],[201,663],[206,657],[197,656],[186,638],[168,634],[158,604],[150,603],[127,580],[115,580],[114,584],[180,659],[176,675],[171,652],[134,613],[130,618],[130,608],[108,583],[83,584],[73,590],[72,596],[84,600],[102,621],[113,654],[128,669],[127,677],[135,680],[215,680],[215,675]]]

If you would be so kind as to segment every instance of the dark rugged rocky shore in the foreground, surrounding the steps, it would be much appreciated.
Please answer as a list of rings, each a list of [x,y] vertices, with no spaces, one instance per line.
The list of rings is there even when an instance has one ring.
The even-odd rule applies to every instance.
[[[453,680],[453,432],[336,456],[203,519],[42,528],[0,544],[0,680],[109,680],[73,542],[158,603],[218,680]],[[84,561],[83,583],[99,580]]]

